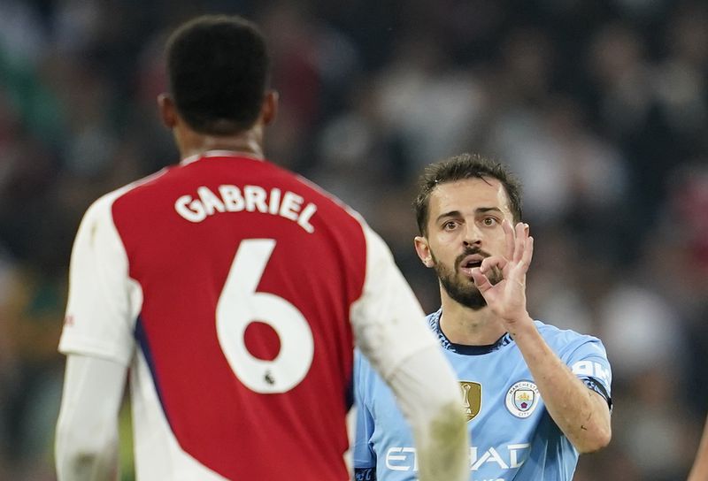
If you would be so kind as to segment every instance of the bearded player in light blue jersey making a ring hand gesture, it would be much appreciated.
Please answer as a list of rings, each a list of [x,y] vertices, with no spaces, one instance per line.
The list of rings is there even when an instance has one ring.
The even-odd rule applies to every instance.
[[[600,340],[529,317],[533,251],[519,182],[461,155],[430,165],[414,202],[416,252],[435,269],[442,308],[427,317],[456,371],[472,435],[469,479],[569,480],[579,453],[611,438],[610,364]],[[419,452],[394,393],[358,357],[358,479],[413,480]]]

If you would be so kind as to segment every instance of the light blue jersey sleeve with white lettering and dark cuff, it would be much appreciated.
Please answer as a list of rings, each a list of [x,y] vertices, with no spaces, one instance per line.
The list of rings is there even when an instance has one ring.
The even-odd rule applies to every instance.
[[[602,341],[582,336],[581,344],[573,350],[567,364],[575,376],[603,396],[612,408],[612,368]]]

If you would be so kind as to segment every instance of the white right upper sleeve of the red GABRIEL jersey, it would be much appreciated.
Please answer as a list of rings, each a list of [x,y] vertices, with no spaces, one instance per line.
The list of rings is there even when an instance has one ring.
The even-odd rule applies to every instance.
[[[437,346],[420,304],[396,267],[389,248],[366,224],[366,278],[350,310],[361,353],[381,377],[389,379],[399,363]]]

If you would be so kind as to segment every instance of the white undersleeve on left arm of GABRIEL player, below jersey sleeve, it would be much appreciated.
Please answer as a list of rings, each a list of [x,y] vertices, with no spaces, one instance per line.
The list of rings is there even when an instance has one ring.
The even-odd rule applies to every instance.
[[[127,368],[68,355],[57,423],[58,481],[109,481],[119,477],[118,415]]]

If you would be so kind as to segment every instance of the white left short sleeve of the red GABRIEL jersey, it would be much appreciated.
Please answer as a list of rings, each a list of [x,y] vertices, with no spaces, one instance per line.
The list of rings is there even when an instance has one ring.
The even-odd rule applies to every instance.
[[[112,221],[112,202],[118,195],[96,201],[81,220],[69,267],[59,351],[128,365],[142,298],[139,286],[128,278],[126,250]]]

